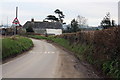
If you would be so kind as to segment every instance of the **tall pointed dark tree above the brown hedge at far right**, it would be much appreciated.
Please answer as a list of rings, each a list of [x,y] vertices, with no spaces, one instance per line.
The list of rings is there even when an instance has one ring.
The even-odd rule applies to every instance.
[[[111,27],[111,21],[110,21],[110,13],[108,12],[106,14],[106,16],[103,18],[103,20],[101,21],[101,26],[104,28],[104,29],[107,29],[109,27]]]

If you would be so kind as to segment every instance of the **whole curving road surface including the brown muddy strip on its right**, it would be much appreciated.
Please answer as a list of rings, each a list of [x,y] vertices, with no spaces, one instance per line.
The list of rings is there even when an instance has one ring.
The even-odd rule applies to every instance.
[[[3,78],[96,78],[92,69],[62,47],[32,39],[32,50],[2,64]],[[85,64],[86,65],[86,64]],[[89,67],[87,65],[87,67]]]

